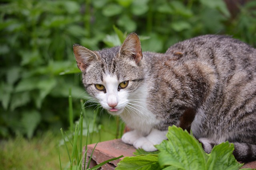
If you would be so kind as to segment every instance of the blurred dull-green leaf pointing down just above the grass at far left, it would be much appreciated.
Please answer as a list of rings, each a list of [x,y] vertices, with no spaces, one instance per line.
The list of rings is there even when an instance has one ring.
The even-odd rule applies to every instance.
[[[38,111],[33,110],[22,114],[21,122],[29,139],[32,138],[37,125],[40,123],[40,120],[41,115]]]

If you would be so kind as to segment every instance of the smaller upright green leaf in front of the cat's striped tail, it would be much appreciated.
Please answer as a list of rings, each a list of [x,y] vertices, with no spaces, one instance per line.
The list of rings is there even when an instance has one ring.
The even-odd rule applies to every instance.
[[[228,142],[214,146],[207,161],[207,169],[238,170],[240,164],[232,154],[233,150],[234,144]]]

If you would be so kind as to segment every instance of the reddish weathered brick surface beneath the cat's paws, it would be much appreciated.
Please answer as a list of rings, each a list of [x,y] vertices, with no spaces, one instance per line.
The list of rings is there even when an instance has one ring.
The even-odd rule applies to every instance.
[[[92,153],[92,150],[94,149],[94,146],[95,144],[88,145],[86,162],[88,162],[90,155]],[[84,150],[85,150],[85,147],[84,147]],[[135,151],[136,149],[133,146],[123,143],[121,139],[98,143],[92,155],[92,160],[90,162],[89,167],[92,168],[93,166],[100,164],[101,162],[104,162],[112,158],[116,158],[121,155],[124,155],[124,157],[134,156],[132,153]],[[102,170],[114,170],[117,166],[117,163],[123,158],[120,158],[118,160],[114,160],[105,164],[104,166],[102,166]],[[86,166],[87,166],[87,163],[86,163]],[[256,168],[256,161],[246,163],[242,168]]]

